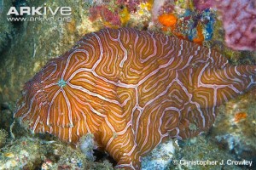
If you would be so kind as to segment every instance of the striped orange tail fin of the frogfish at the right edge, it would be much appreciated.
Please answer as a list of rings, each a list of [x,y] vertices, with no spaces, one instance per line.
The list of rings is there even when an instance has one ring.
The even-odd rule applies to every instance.
[[[197,76],[194,98],[201,106],[209,108],[221,105],[255,86],[256,65],[226,65],[223,68],[205,65]]]

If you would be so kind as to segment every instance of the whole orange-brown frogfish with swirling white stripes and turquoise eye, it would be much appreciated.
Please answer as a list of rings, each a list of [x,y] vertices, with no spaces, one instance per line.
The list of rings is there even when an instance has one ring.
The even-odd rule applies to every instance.
[[[216,51],[131,28],[85,35],[26,82],[15,117],[32,133],[77,144],[93,133],[117,167],[166,139],[212,126],[218,105],[255,85],[256,65],[230,65]]]

